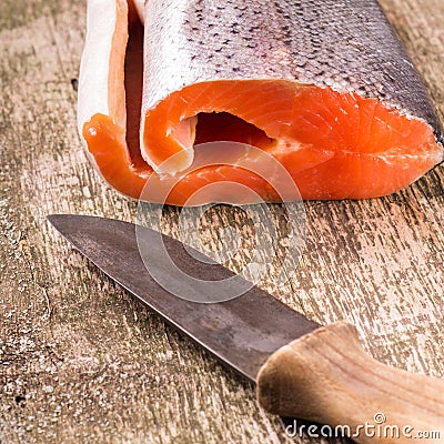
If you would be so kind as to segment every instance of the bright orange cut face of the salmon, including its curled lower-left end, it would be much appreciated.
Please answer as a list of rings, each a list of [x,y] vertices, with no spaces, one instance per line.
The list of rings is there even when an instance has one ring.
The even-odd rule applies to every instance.
[[[180,176],[193,164],[193,150],[199,151],[200,143],[231,141],[256,147],[272,155],[290,173],[303,199],[365,199],[386,195],[408,185],[444,159],[444,150],[426,122],[402,115],[376,99],[291,82],[218,83],[199,88],[205,89],[210,95],[213,90],[238,90],[235,109],[224,103],[218,109],[210,107],[204,100],[206,94],[196,94],[193,91],[196,87],[193,87],[174,93],[150,113],[145,120],[145,141],[150,143],[149,150],[154,152],[151,162],[155,159],[160,168],[152,168],[141,159],[135,168],[124,140],[113,135],[114,127],[94,127],[92,122],[98,118],[89,122],[85,128],[94,127],[94,140],[88,137],[88,131],[84,131],[84,137],[105,180],[119,191],[138,199],[144,183],[141,178],[147,179],[152,173]],[[258,103],[249,105],[245,95],[252,101],[254,90],[260,91],[255,98]],[[279,119],[268,119],[266,104],[276,100],[276,91],[281,91],[282,102],[287,104],[284,107],[281,102]],[[193,101],[193,97],[202,97],[202,102]],[[180,107],[179,103],[186,105]],[[263,103],[262,110],[259,103]],[[252,112],[252,109],[259,111]],[[168,110],[174,110],[174,113],[163,114]],[[173,127],[175,131],[169,131],[164,123],[163,129],[153,124],[157,121],[173,122],[174,125],[175,115],[185,115]],[[104,132],[108,134],[99,139],[97,134]],[[163,147],[163,150],[157,150],[157,147]],[[218,153],[211,155],[212,164],[216,164]],[[232,159],[236,168],[244,161],[241,157]],[[272,176],[272,171],[269,176]],[[199,179],[196,174],[193,178],[194,183],[190,178],[185,180],[184,175],[183,182],[176,186],[176,193],[182,198],[168,202],[186,203],[198,184],[240,181],[239,173],[226,167],[219,170],[203,168]],[[138,186],[134,188],[134,183]],[[253,175],[246,174],[242,183],[258,188],[258,179]],[[259,194],[268,200],[279,200],[269,192],[264,181],[261,184],[263,191]],[[153,190],[151,199],[154,196]],[[206,203],[206,199],[212,202],[221,196],[205,194],[205,201],[201,203]],[[242,195],[234,201],[236,199],[246,203]]]

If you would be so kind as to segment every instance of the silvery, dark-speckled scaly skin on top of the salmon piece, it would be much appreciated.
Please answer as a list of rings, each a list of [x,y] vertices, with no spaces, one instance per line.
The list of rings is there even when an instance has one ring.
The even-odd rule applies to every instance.
[[[428,93],[375,0],[153,0],[143,110],[185,85],[287,79],[383,99],[443,139]]]

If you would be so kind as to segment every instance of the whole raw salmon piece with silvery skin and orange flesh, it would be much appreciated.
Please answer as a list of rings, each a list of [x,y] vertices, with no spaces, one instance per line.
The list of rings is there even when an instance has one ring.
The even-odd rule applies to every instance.
[[[88,21],[79,131],[132,198],[157,174],[178,179],[172,204],[216,181],[280,200],[241,162],[189,172],[204,142],[266,152],[304,199],[385,195],[443,160],[427,91],[375,0],[89,0]]]

